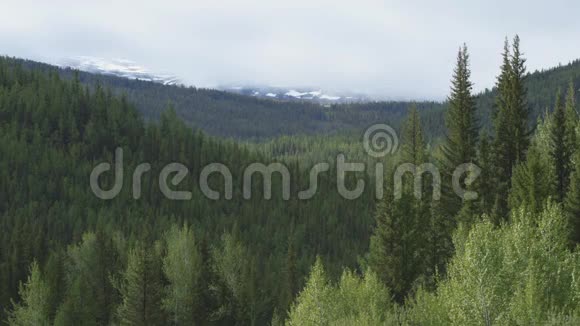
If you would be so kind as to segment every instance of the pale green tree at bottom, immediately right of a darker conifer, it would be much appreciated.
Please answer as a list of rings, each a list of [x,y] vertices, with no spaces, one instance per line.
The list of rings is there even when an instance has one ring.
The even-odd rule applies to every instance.
[[[195,309],[200,304],[201,254],[193,230],[173,226],[166,235],[167,254],[163,272],[169,281],[163,307],[174,325],[195,323]]]

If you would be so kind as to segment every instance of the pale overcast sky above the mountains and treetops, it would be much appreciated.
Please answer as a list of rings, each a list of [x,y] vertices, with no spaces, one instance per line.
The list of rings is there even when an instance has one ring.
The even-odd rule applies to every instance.
[[[124,58],[188,84],[444,99],[458,47],[492,87],[518,33],[535,70],[580,57],[578,1],[2,1],[0,53]]]

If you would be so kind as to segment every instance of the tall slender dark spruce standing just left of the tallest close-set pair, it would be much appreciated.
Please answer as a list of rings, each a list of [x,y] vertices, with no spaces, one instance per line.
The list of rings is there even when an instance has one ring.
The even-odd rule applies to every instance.
[[[453,171],[461,164],[474,163],[478,140],[478,123],[475,100],[472,95],[473,84],[470,80],[469,54],[464,44],[457,54],[457,63],[451,81],[451,94],[448,97],[448,109],[445,126],[447,127],[445,144],[442,146],[442,165],[449,182],[443,192],[444,211],[455,216],[462,205],[461,198],[451,189]]]

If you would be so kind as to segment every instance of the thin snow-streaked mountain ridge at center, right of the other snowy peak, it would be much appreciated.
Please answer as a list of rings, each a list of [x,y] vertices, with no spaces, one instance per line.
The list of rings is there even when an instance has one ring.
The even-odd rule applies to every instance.
[[[367,102],[370,99],[361,94],[326,92],[319,88],[284,88],[271,86],[221,86],[221,90],[270,99],[313,101],[323,104]]]

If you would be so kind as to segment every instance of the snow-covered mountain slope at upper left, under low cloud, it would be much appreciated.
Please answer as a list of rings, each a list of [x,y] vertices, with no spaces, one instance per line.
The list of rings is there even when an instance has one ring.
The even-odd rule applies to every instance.
[[[58,65],[90,73],[152,81],[164,85],[180,83],[179,79],[173,75],[153,73],[135,62],[125,59],[107,60],[97,57],[81,56],[63,59]]]

